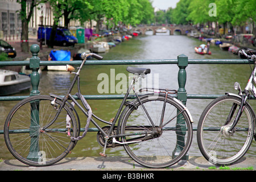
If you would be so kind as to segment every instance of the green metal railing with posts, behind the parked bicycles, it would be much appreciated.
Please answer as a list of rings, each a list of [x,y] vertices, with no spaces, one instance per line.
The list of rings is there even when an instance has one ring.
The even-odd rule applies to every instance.
[[[40,91],[38,90],[39,82],[40,82],[40,76],[38,73],[40,66],[46,66],[46,65],[66,65],[67,61],[41,61],[38,57],[38,53],[40,51],[39,46],[34,44],[31,46],[30,51],[32,53],[32,57],[30,58],[30,61],[1,61],[0,66],[15,66],[15,65],[26,65],[29,66],[32,70],[31,73],[31,85],[32,90],[30,92],[30,96],[38,95],[40,94]],[[80,65],[81,61],[69,61],[70,65]],[[209,95],[209,94],[187,94],[187,91],[185,90],[185,83],[187,80],[187,73],[185,69],[188,67],[188,64],[250,64],[248,60],[188,60],[188,57],[185,55],[179,55],[177,56],[177,59],[171,59],[171,60],[101,60],[101,61],[94,61],[94,60],[88,60],[86,61],[85,65],[135,65],[135,64],[176,64],[177,67],[179,67],[179,71],[177,73],[177,81],[179,84],[179,89],[177,90],[176,97],[178,100],[181,100],[183,104],[187,103],[187,99],[213,99],[217,98],[221,95]],[[23,100],[24,98],[27,98],[29,96],[5,96],[0,97],[0,101],[19,101]],[[73,96],[77,98],[76,96]],[[106,99],[123,99],[123,95],[89,95],[84,96],[86,100],[106,100]],[[131,95],[129,98],[135,98],[135,96]],[[179,119],[177,119],[177,124],[179,122]],[[182,120],[182,119],[181,119]],[[83,131],[84,129],[81,129]],[[193,129],[196,130],[196,129]],[[97,129],[90,128],[88,131],[98,131]],[[30,131],[22,131],[29,133]],[[3,130],[0,130],[0,134],[3,134]],[[180,137],[179,140],[183,140],[183,137]],[[32,140],[32,138],[31,138]],[[179,144],[177,141],[177,149],[175,152],[179,152],[181,148],[179,146],[182,146],[183,144]],[[29,158],[34,159],[37,158],[36,151],[30,152]],[[186,156],[186,159],[188,160],[188,155]],[[36,160],[36,159],[35,159]]]

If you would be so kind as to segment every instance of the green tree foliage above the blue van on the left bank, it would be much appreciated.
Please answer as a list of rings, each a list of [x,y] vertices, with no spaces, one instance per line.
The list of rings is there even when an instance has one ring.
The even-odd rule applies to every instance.
[[[65,26],[71,19],[96,20],[98,24],[106,18],[111,26],[119,22],[125,24],[152,23],[154,9],[149,0],[60,0],[49,1],[53,7],[55,20],[64,15]]]

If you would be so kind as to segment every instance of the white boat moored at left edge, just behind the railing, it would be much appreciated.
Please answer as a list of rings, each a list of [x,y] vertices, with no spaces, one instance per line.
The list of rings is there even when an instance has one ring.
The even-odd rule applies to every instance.
[[[7,96],[30,89],[30,77],[18,72],[0,69],[0,96]]]

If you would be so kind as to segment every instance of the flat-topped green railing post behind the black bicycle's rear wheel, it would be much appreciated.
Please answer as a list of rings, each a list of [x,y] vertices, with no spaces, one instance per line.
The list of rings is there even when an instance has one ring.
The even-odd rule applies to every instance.
[[[177,62],[177,66],[179,67],[177,77],[179,84],[179,89],[177,90],[177,99],[183,102],[184,105],[186,105],[187,91],[185,89],[185,84],[187,80],[187,73],[185,71],[185,68],[188,66],[188,57],[185,55],[179,55],[177,56]],[[177,113],[179,112],[180,111],[177,110]],[[176,128],[178,128],[179,131],[176,131],[177,143],[173,155],[179,154],[179,152],[183,150],[185,146],[186,125],[184,123],[184,118],[177,117]],[[188,160],[188,154],[184,156],[183,160]]]

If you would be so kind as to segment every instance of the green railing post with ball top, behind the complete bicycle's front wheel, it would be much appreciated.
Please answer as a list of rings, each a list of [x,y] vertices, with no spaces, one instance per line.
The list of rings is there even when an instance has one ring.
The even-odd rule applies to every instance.
[[[30,58],[30,69],[32,70],[30,79],[32,90],[30,92],[30,96],[39,95],[40,92],[38,90],[38,85],[40,81],[40,75],[38,73],[40,67],[40,58],[38,57],[38,52],[40,48],[38,45],[33,44],[30,47],[30,51],[32,53],[32,57]],[[35,162],[40,162],[39,156],[39,101],[31,103],[31,123],[30,123],[30,153],[27,156],[27,159],[33,160]]]

